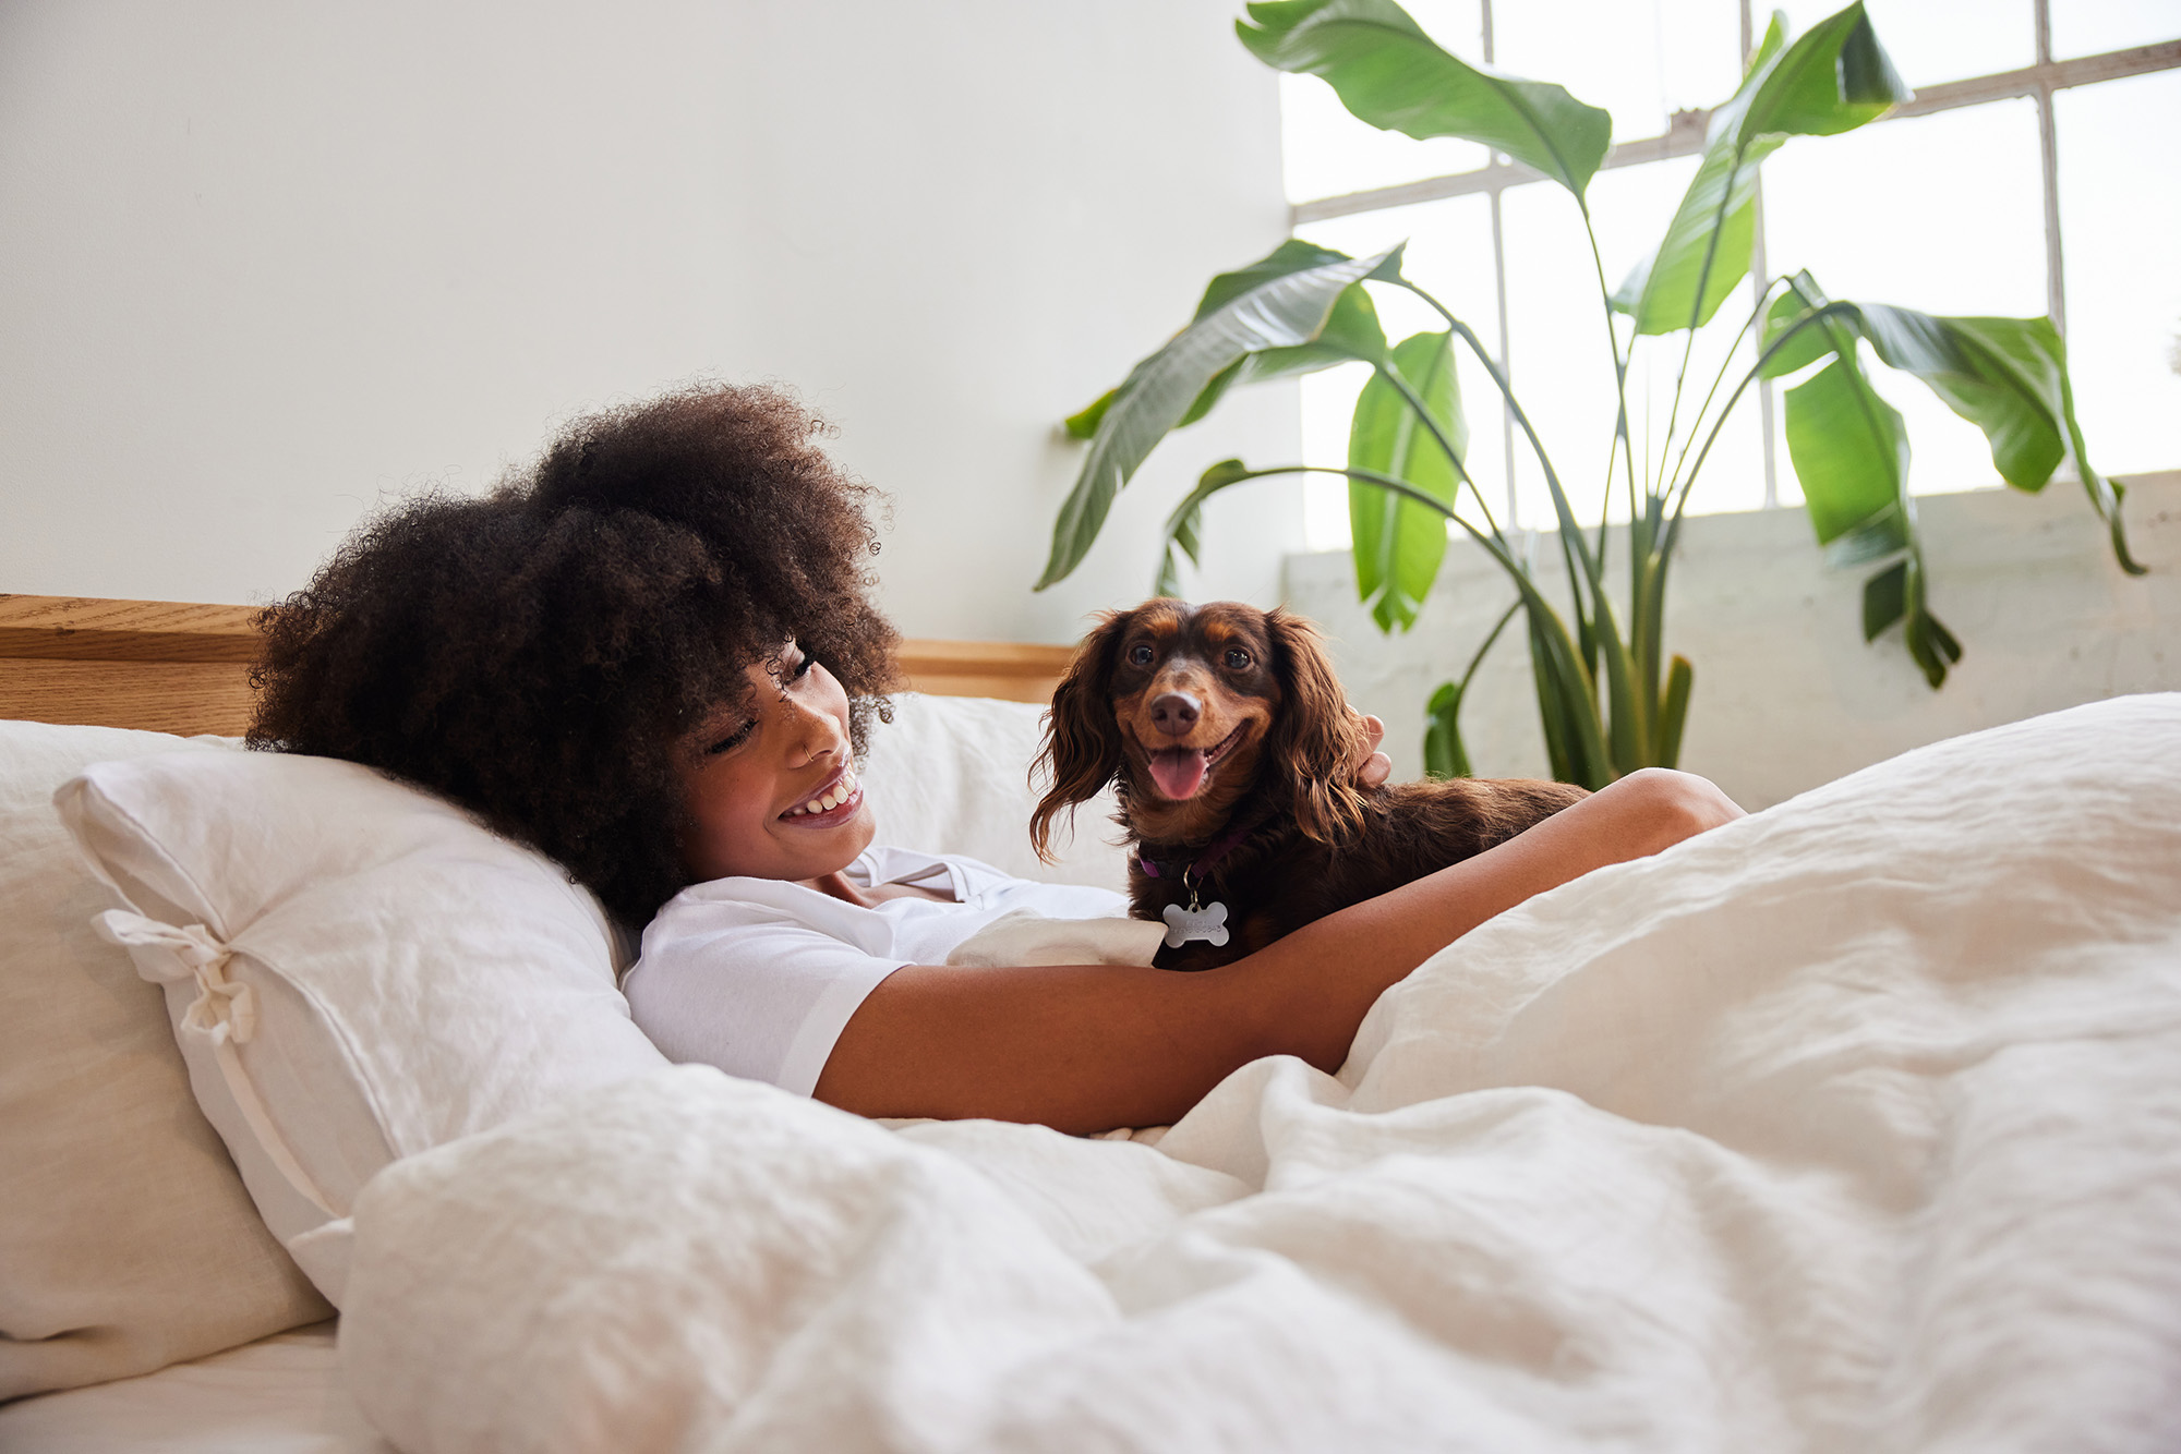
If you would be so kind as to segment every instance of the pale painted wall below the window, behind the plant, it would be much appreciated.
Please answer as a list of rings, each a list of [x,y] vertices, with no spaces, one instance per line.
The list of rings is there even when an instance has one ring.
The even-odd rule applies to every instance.
[[[2129,691],[2181,689],[2181,473],[2131,482],[2129,536],[2150,567],[2144,578],[2113,565],[2074,484],[2055,482],[2037,497],[1926,495],[1917,514],[1930,606],[1965,647],[1941,691],[1924,684],[1900,628],[1865,645],[1869,569],[1828,571],[1802,510],[1686,523],[1666,597],[1668,650],[1697,669],[1682,767],[1767,807],[1921,743]],[[1542,575],[1562,602],[1551,545],[1540,543]],[[1612,549],[1625,543],[1614,536]],[[1291,604],[1337,639],[1350,700],[1387,719],[1396,770],[1422,772],[1424,702],[1514,597],[1505,575],[1455,543],[1418,628],[1398,639],[1381,637],[1357,606],[1346,554],[1291,556],[1287,580]],[[1518,628],[1501,637],[1463,708],[1479,776],[1546,772]]]

